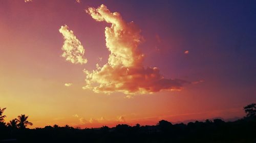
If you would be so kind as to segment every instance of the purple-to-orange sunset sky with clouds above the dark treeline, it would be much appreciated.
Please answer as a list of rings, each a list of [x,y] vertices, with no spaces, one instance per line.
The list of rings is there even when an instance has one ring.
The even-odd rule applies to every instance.
[[[0,0],[0,107],[35,127],[245,116],[256,1]]]

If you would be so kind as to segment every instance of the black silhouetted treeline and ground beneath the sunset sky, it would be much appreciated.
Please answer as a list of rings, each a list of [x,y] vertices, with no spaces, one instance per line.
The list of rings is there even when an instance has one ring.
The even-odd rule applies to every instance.
[[[246,117],[234,122],[221,119],[188,124],[172,124],[161,120],[155,126],[129,126],[78,129],[46,126],[27,129],[11,128],[4,122],[0,127],[2,142],[256,142],[256,104],[244,107]],[[2,116],[2,115],[1,115]],[[25,116],[26,117],[26,116]],[[18,122],[19,124],[19,122]],[[17,124],[17,125],[18,125]],[[0,141],[1,142],[1,141]]]

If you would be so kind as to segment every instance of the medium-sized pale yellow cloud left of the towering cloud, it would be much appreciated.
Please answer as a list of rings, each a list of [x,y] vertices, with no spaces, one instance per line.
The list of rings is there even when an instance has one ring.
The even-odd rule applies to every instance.
[[[73,64],[86,64],[87,59],[83,59],[84,48],[81,42],[73,34],[73,31],[68,30],[68,26],[61,26],[59,32],[63,35],[64,44],[62,46],[62,57],[66,58],[66,61],[69,61]]]

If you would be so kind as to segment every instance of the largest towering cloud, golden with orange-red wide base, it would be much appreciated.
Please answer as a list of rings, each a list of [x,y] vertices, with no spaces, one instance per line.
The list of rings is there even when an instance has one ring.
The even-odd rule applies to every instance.
[[[105,27],[106,47],[110,51],[108,63],[86,73],[87,85],[96,93],[122,92],[124,94],[147,94],[162,90],[181,90],[187,81],[166,79],[158,68],[143,67],[144,54],[138,49],[141,30],[134,22],[126,23],[117,12],[111,13],[106,6],[86,10],[96,21],[111,23]]]

